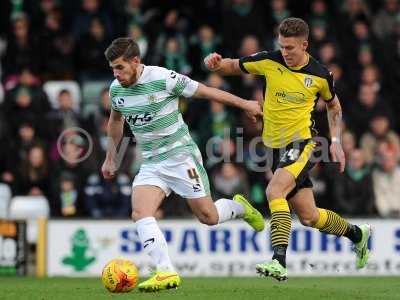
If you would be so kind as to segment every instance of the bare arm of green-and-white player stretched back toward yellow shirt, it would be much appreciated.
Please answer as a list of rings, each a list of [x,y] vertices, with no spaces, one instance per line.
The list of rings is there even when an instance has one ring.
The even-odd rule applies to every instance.
[[[257,116],[262,116],[261,106],[256,100],[245,100],[231,93],[221,91],[201,83],[199,83],[199,87],[193,96],[196,98],[207,98],[211,101],[217,101],[226,105],[236,106],[240,109],[243,109],[253,122],[256,122]]]

